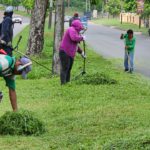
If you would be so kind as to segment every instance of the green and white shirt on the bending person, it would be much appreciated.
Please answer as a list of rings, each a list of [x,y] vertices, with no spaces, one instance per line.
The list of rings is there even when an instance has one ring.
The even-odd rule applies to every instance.
[[[15,90],[15,77],[12,74],[15,65],[15,58],[0,54],[0,76],[4,77],[6,86]]]

